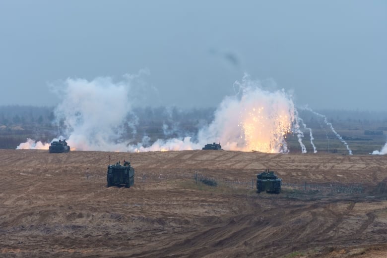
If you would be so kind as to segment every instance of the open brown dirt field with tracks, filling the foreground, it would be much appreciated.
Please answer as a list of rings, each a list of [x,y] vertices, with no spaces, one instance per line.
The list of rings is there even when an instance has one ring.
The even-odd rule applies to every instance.
[[[0,256],[387,257],[386,155],[135,153],[129,189],[106,187],[109,155],[129,159],[0,150]],[[284,186],[362,191],[257,194],[254,178],[267,167]],[[219,186],[196,183],[195,172]]]

